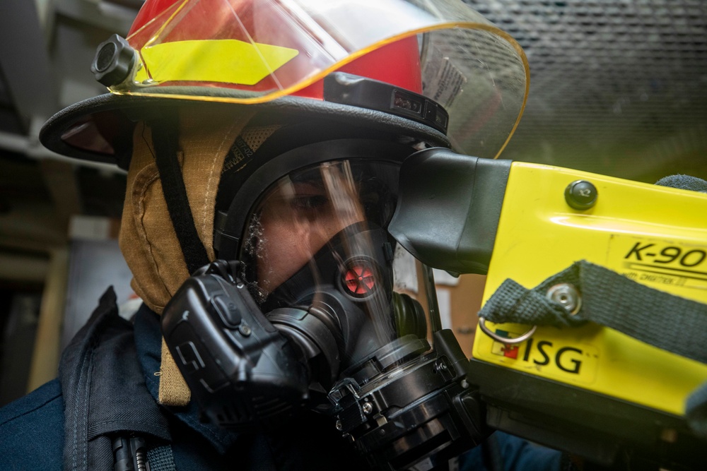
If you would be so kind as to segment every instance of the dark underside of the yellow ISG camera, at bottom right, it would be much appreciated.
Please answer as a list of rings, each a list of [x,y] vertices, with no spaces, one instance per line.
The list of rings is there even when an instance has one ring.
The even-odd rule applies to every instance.
[[[698,470],[707,462],[683,417],[475,359],[468,378],[489,427],[583,458],[585,469]]]

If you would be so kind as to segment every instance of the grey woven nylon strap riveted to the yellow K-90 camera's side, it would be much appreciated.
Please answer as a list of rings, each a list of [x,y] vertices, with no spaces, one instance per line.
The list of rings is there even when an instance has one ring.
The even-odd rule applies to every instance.
[[[547,298],[547,290],[559,283],[571,283],[580,292],[582,307],[574,316]],[[504,281],[479,317],[556,327],[592,321],[707,363],[707,304],[654,290],[588,261],[575,262],[532,290]]]

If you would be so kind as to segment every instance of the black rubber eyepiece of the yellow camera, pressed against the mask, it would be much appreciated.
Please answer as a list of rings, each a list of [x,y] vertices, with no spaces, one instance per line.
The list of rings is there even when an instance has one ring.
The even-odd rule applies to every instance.
[[[485,275],[511,163],[445,148],[411,155],[400,170],[388,232],[428,266]]]

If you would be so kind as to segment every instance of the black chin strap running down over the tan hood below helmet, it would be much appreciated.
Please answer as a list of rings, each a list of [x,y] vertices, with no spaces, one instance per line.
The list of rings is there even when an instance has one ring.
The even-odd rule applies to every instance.
[[[189,273],[209,263],[204,244],[199,239],[194,217],[189,207],[187,188],[177,159],[179,152],[179,118],[175,112],[165,111],[150,125],[155,148],[155,161],[162,181],[162,192],[167,201],[172,225],[177,233]]]

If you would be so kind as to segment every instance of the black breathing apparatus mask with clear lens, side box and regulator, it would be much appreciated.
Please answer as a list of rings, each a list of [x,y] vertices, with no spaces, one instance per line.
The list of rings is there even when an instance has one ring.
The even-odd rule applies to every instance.
[[[163,314],[211,422],[267,429],[316,410],[385,469],[430,469],[484,438],[431,269],[387,232],[409,153],[361,139],[305,145],[259,167],[221,213],[221,260]]]

